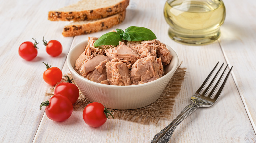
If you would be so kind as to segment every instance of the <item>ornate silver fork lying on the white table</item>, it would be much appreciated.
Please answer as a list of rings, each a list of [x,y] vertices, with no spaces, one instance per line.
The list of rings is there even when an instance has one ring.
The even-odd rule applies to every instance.
[[[219,62],[218,62],[219,63]],[[216,66],[213,68],[213,70],[210,72],[210,74],[207,76],[203,84],[199,87],[199,89],[196,91],[194,95],[191,97],[191,104],[186,106],[184,110],[181,111],[181,113],[164,129],[162,129],[157,135],[154,136],[153,140],[151,143],[168,143],[170,141],[170,138],[173,134],[173,131],[175,128],[183,121],[185,118],[187,118],[190,114],[192,114],[198,107],[210,107],[213,104],[216,103],[218,98],[220,97],[220,94],[226,84],[227,78],[233,68],[233,66],[230,68],[228,71],[221,87],[217,91],[217,93],[214,96],[214,92],[216,88],[218,87],[228,65],[222,72],[219,80],[215,84],[215,86],[212,88],[211,92],[207,95],[207,92],[209,91],[210,87],[213,85],[216,77],[218,76],[219,72],[221,71],[221,68],[223,67],[224,63],[221,65],[220,69],[217,71],[213,79],[211,80],[210,84],[203,90],[204,86],[206,85],[207,81],[210,79],[211,75],[213,74],[214,70],[216,69],[218,63]],[[203,92],[203,93],[202,93]]]

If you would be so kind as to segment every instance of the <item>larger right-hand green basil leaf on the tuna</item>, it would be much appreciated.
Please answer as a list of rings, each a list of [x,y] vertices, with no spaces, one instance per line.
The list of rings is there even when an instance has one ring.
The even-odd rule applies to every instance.
[[[130,35],[131,41],[147,41],[156,39],[156,35],[144,27],[131,26],[125,29],[125,33]]]

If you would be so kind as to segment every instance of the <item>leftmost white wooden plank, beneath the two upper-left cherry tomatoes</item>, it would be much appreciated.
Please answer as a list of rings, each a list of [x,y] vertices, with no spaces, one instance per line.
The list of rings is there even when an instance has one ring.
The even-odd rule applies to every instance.
[[[32,142],[34,139],[44,114],[39,106],[49,98],[44,93],[51,87],[43,81],[46,69],[42,62],[62,68],[73,39],[61,35],[63,23],[47,20],[47,11],[66,2],[70,1],[0,2],[0,142]],[[61,42],[60,56],[51,57],[46,53],[43,36],[48,41]],[[22,42],[33,42],[32,37],[39,42],[38,55],[32,61],[25,61],[18,55],[18,48]]]

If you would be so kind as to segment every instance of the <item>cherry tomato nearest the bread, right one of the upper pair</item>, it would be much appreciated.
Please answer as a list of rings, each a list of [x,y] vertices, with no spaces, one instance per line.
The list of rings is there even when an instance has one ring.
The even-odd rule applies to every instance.
[[[62,45],[59,41],[57,40],[51,40],[47,43],[46,40],[44,40],[43,37],[43,42],[44,45],[46,46],[46,52],[51,55],[51,56],[59,56],[62,52]]]

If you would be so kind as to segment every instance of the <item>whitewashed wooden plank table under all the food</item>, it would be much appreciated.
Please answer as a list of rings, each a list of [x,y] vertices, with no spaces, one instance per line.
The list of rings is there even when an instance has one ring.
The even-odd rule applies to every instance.
[[[77,0],[2,0],[0,1],[0,142],[74,142],[74,143],[144,143],[168,125],[190,103],[213,66],[220,61],[233,65],[232,76],[218,103],[200,108],[175,130],[175,143],[252,143],[256,142],[256,1],[224,0],[226,19],[218,41],[205,46],[187,46],[168,37],[168,25],[163,17],[165,0],[130,0],[126,19],[115,28],[142,26],[151,29],[157,39],[171,46],[187,68],[181,92],[176,98],[173,117],[157,125],[143,125],[118,119],[108,119],[98,128],[86,125],[81,111],[69,119],[54,122],[39,110],[44,93],[51,88],[42,74],[48,62],[68,73],[66,56],[71,48],[87,35],[63,37],[68,22],[47,20],[49,10]],[[100,37],[111,29],[92,33]],[[58,40],[63,52],[51,57],[45,51],[42,38]],[[19,45],[36,38],[40,44],[38,56],[25,61],[18,55]],[[230,67],[229,67],[230,68]]]

